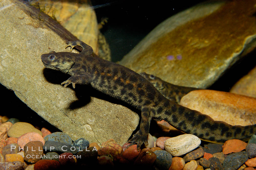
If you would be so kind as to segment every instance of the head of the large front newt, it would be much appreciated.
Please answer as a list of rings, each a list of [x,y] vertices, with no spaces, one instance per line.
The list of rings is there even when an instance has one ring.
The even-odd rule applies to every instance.
[[[71,52],[50,51],[48,54],[42,54],[41,60],[46,68],[68,73],[75,63],[73,54]]]

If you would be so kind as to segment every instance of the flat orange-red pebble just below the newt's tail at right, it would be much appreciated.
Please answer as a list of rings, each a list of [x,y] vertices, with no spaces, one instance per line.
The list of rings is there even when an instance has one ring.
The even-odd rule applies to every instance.
[[[247,143],[238,139],[227,140],[222,146],[222,153],[227,155],[232,152],[240,152],[246,148]]]

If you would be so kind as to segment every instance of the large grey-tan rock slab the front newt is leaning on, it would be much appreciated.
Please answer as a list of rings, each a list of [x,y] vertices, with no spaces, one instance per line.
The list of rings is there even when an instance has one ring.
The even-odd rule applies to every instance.
[[[94,91],[88,86],[63,88],[69,76],[45,69],[40,60],[50,50],[68,51],[66,42],[77,38],[24,1],[3,0],[0,10],[1,84],[72,140],[125,143],[138,124],[135,112],[106,96],[109,101],[90,98]]]

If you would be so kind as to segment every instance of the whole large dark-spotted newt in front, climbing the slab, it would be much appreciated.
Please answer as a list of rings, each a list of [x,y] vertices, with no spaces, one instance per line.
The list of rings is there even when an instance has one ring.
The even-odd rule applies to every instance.
[[[256,125],[231,126],[214,121],[196,110],[180,106],[165,98],[140,74],[113,62],[92,55],[93,50],[82,41],[67,43],[70,51],[81,46],[80,53],[54,52],[42,54],[45,67],[71,75],[61,84],[90,84],[93,88],[141,110],[140,130],[133,135],[131,145],[137,143],[137,150],[147,142],[152,118],[165,120],[175,128],[198,136],[207,141],[223,143],[229,139],[248,139],[256,132]],[[86,88],[86,87],[85,87]]]

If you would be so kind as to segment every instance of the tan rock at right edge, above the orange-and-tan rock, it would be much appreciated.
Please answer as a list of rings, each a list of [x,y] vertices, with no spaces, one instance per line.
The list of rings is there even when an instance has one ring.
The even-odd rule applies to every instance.
[[[247,75],[243,76],[230,89],[231,93],[240,95],[256,97],[256,67],[252,69]]]

